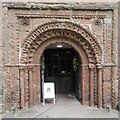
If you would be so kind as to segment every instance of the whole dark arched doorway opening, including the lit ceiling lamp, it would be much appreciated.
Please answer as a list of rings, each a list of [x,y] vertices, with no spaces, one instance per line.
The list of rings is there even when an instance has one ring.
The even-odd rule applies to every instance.
[[[79,55],[74,48],[65,43],[51,44],[44,51],[44,60],[44,82],[54,82],[57,95],[71,95],[80,101],[81,64]]]

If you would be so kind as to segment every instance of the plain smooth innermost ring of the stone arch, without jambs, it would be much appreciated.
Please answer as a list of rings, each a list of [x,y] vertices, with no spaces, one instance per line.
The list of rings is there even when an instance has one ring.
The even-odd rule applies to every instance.
[[[39,45],[38,49],[35,51],[35,53],[33,53],[34,56],[32,57],[32,60],[30,61],[30,63],[33,62],[35,64],[39,64],[40,61],[38,58],[42,56],[45,49],[47,49],[49,45],[54,44],[54,43],[65,43],[65,44],[72,46],[73,49],[78,53],[79,58],[81,60],[81,64],[89,66],[89,60],[88,60],[87,54],[85,53],[84,49],[82,47],[80,48],[79,44],[75,43],[73,40],[70,40],[68,38],[61,39],[61,37],[54,38],[54,39],[51,38],[43,42],[41,45]]]

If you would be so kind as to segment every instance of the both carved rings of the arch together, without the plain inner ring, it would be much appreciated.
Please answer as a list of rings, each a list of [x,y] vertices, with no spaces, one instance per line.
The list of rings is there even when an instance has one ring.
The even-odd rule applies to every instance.
[[[69,41],[72,40],[74,43],[76,43],[76,45],[80,46],[79,48],[82,48],[85,51],[89,63],[101,64],[102,52],[94,35],[92,35],[81,25],[68,21],[48,22],[36,27],[26,37],[22,44],[23,50],[21,62],[34,63],[33,58],[38,47],[42,46],[43,43],[47,42],[48,40],[51,40],[52,38],[54,39],[55,37],[64,37],[69,39]]]

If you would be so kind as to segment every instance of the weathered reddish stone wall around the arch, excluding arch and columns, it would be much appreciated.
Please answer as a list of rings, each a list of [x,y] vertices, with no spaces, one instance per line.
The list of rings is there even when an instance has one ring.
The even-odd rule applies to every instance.
[[[40,7],[41,5],[42,7]],[[115,61],[117,61],[116,60],[117,59],[116,10],[114,12],[112,12],[111,10],[114,8],[114,5],[112,6],[112,4],[103,5],[103,4],[92,4],[92,3],[78,4],[78,6],[74,6],[74,5],[71,6],[73,11],[72,9],[69,11],[70,5],[65,5],[65,4],[64,5],[55,4],[55,5],[52,4],[47,6],[46,4],[37,4],[37,3],[32,3],[32,4],[15,3],[15,4],[6,4],[5,6],[4,4],[4,8],[3,8],[4,21],[2,24],[4,29],[3,31],[0,31],[0,33],[3,33],[3,40],[4,40],[3,42],[5,45],[4,59],[3,59],[4,64],[9,64],[11,66],[19,63],[18,57],[20,52],[19,50],[20,44],[24,43],[25,38],[28,36],[28,34],[31,31],[33,31],[34,28],[36,28],[37,26],[40,26],[43,23],[47,23],[47,22],[49,23],[53,20],[57,20],[57,21],[67,20],[70,22],[72,20],[73,22],[84,26],[86,29],[88,29],[88,31],[90,32],[92,31],[92,34],[94,34],[99,44],[103,45],[104,47],[104,74],[103,74],[103,88],[102,88],[103,98],[104,98],[103,105],[107,106],[109,104],[114,103],[114,99],[115,99],[114,89],[116,88],[114,86],[115,83],[114,79],[116,79],[116,72],[117,72],[117,70],[113,68],[116,65]],[[30,6],[31,9],[29,9]],[[97,7],[99,9],[97,9]],[[81,8],[82,10],[80,10]],[[71,16],[72,18],[70,18]],[[97,21],[96,21],[96,17],[98,19]],[[0,18],[1,18],[0,20],[2,21],[2,17]],[[44,38],[44,36],[41,35],[41,39],[43,39],[42,37]],[[2,44],[2,39],[0,44]],[[35,46],[31,47],[31,51],[36,51],[37,44],[33,44],[33,45]],[[0,54],[2,56],[2,53]],[[38,60],[38,56],[37,56],[37,60]],[[2,64],[2,57],[0,61],[1,61],[0,64]],[[9,103],[10,92],[12,88],[15,89],[17,88],[16,86],[18,84],[17,82],[19,78],[18,78],[18,72],[14,68],[11,67],[8,69],[6,68],[4,72],[5,72],[5,81],[6,81],[4,91],[6,93]],[[16,84],[11,85],[11,81],[12,82],[15,81]],[[112,101],[111,101],[111,96],[113,96]]]

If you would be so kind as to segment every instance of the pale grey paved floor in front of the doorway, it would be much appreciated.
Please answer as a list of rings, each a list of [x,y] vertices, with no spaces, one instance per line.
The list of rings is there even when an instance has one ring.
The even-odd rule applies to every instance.
[[[14,115],[12,112],[5,113],[3,118],[118,118],[118,112],[83,106],[75,97],[59,95],[55,106],[49,102],[45,106],[17,111]]]

